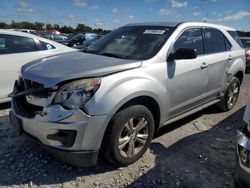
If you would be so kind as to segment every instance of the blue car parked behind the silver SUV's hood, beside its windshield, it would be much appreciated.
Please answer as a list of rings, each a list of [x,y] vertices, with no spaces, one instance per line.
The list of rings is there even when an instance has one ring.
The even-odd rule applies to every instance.
[[[66,45],[76,49],[85,49],[101,37],[101,35],[95,33],[78,33],[70,37]]]

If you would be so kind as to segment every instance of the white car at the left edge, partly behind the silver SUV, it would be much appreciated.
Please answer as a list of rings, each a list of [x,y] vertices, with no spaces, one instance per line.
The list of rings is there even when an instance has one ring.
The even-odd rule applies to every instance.
[[[40,58],[75,51],[36,35],[0,29],[0,103],[10,101],[22,65]]]

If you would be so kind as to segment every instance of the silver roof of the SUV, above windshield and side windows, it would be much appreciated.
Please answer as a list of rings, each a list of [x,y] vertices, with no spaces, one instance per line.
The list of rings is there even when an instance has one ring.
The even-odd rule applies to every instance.
[[[234,28],[223,26],[214,23],[207,23],[207,22],[141,22],[141,23],[131,23],[125,26],[168,26],[168,27],[178,27],[180,25],[187,25],[187,26],[201,26],[201,27],[214,27],[220,28],[229,31],[235,31]]]

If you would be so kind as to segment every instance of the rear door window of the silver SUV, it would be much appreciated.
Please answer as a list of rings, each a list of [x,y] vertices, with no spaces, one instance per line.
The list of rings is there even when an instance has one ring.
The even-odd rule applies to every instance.
[[[204,29],[204,35],[207,54],[226,51],[226,39],[225,36],[219,30],[206,28]]]

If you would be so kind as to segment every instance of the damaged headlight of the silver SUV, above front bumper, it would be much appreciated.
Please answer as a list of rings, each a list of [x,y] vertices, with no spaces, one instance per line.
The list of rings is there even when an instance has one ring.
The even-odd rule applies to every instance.
[[[70,82],[61,87],[55,96],[54,103],[68,108],[80,108],[94,95],[100,84],[100,78]]]

